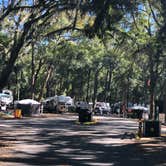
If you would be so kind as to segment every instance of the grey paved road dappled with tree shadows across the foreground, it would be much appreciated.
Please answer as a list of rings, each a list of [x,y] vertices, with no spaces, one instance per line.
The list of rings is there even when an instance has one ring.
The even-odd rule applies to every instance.
[[[166,165],[164,137],[136,140],[137,122],[97,118],[95,125],[71,115],[0,120],[0,166]]]

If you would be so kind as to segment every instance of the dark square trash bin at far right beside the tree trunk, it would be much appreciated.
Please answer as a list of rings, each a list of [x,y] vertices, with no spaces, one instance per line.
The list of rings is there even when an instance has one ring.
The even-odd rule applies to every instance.
[[[144,137],[160,137],[161,136],[160,121],[145,120],[143,123],[143,136]]]

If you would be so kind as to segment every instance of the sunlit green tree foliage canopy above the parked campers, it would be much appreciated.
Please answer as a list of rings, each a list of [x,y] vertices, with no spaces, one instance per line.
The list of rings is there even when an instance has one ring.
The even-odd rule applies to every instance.
[[[1,13],[0,71],[13,63],[6,86],[16,96],[19,91],[21,98],[30,97],[35,77],[36,99],[43,90],[43,98],[66,94],[92,101],[97,83],[100,100],[148,103],[146,81],[152,73],[165,82],[163,1],[75,2],[37,1],[34,7],[23,1],[4,18]],[[15,47],[22,36],[24,45]],[[18,50],[15,59],[13,48]],[[156,96],[162,95],[162,85],[154,82]]]

